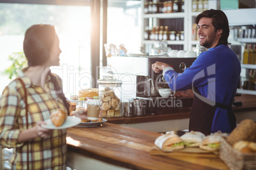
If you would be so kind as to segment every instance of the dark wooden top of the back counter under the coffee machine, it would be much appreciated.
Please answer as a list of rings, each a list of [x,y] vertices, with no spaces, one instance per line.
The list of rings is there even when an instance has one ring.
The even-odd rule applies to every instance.
[[[236,112],[248,112],[256,110],[256,96],[255,95],[241,95],[236,96],[235,101],[241,101],[242,106],[234,107],[232,110]],[[191,108],[173,108],[169,112],[156,112],[153,115],[146,115],[143,117],[111,117],[106,118],[108,122],[115,124],[136,124],[142,122],[156,122],[176,119],[188,119],[190,117]]]

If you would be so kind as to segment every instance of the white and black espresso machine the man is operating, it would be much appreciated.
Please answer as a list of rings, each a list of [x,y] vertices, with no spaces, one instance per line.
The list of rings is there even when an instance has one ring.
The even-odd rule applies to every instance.
[[[132,83],[125,84],[125,80],[122,79],[122,89],[134,93],[129,94],[128,98],[139,98],[148,100],[148,108],[150,112],[156,110],[169,110],[174,108],[177,104],[176,101],[180,101],[183,107],[192,107],[192,98],[162,98],[159,95],[159,88],[169,88],[165,81],[162,72],[155,73],[152,70],[152,64],[155,62],[168,63],[173,69],[182,73],[186,68],[190,67],[196,58],[170,58],[163,56],[111,56],[108,58],[108,65],[113,69],[114,74],[118,77],[130,77]],[[132,77],[132,78],[131,78]],[[130,81],[131,82],[131,81]],[[127,96],[126,96],[127,97]],[[122,93],[122,100],[125,100],[125,93]],[[169,106],[159,106],[158,103],[168,103]],[[175,104],[174,104],[175,103]]]

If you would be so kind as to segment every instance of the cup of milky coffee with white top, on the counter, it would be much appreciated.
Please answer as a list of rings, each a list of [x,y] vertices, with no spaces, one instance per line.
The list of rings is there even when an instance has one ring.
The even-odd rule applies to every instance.
[[[96,121],[99,118],[99,112],[101,110],[101,101],[88,100],[86,103],[87,103],[87,119]]]

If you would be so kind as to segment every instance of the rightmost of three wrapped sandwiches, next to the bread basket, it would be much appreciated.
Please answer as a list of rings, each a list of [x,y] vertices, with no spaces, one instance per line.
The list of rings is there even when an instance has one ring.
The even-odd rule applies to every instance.
[[[217,151],[220,150],[220,139],[222,136],[209,135],[204,138],[199,147],[203,150]]]

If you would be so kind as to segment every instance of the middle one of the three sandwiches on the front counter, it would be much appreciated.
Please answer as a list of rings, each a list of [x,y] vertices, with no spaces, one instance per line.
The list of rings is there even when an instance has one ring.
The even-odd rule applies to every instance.
[[[185,147],[199,147],[204,137],[205,135],[203,133],[197,131],[191,131],[180,136]]]

